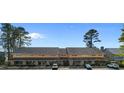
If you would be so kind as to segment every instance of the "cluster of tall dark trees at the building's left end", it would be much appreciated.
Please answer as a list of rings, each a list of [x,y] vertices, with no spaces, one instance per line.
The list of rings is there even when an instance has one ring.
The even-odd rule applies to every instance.
[[[1,40],[3,48],[7,51],[8,59],[10,58],[10,53],[13,52],[15,48],[30,45],[31,37],[23,27],[15,27],[10,23],[3,23],[1,25]]]

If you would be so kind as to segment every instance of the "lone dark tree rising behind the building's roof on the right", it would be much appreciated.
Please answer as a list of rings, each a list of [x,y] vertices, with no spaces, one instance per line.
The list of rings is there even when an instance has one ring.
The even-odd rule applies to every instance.
[[[94,43],[101,42],[98,38],[99,33],[95,29],[90,29],[85,35],[84,35],[84,42],[86,43],[86,46],[89,48],[94,47]]]

